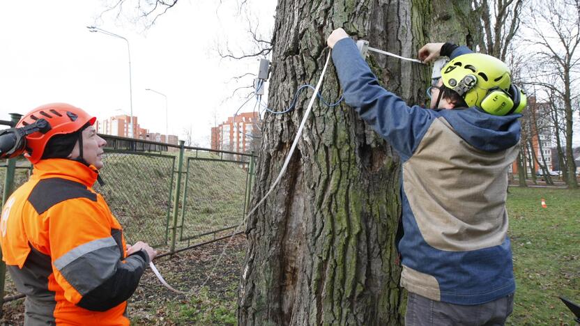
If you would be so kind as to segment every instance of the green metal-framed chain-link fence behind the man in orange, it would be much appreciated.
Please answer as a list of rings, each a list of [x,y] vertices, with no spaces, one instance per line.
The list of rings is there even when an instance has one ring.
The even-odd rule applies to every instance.
[[[227,237],[243,222],[253,155],[100,136],[107,141],[100,170],[105,183],[93,189],[121,222],[128,243],[148,242],[163,256]],[[0,166],[1,180],[13,190],[31,173],[27,160],[15,162],[14,172]],[[8,275],[5,294],[3,302],[22,297]]]

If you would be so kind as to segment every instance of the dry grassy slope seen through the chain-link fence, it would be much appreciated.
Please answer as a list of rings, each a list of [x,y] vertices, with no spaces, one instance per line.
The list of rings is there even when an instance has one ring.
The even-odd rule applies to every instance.
[[[199,153],[198,157],[211,155]],[[185,238],[237,225],[243,217],[245,169],[231,162],[190,160],[188,170],[184,161],[183,172],[187,174],[183,174],[178,198],[178,233],[183,232]],[[107,185],[96,185],[95,189],[105,197],[130,242],[143,240],[160,247],[167,244],[167,233],[167,240],[171,239],[171,229],[167,228],[173,226],[173,189],[177,182],[173,170],[177,170],[177,163],[173,156],[106,155],[102,176]]]

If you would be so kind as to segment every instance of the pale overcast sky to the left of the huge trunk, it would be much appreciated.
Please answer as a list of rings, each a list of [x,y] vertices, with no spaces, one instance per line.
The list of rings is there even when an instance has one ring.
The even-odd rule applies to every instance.
[[[133,115],[151,132],[165,133],[165,93],[169,133],[180,138],[192,125],[194,139],[208,146],[214,111],[221,122],[244,102],[228,98],[238,84],[231,78],[256,73],[255,60],[227,61],[217,47],[250,47],[247,21],[236,0],[179,1],[151,29],[107,17],[101,0],[3,1],[0,7],[0,119],[41,104],[68,102],[98,118],[130,113],[128,51],[124,40],[89,33],[86,26],[127,38],[132,65]],[[253,0],[251,12],[267,34],[274,23],[273,0]],[[240,95],[247,94],[240,93]],[[242,111],[252,111],[248,104]]]

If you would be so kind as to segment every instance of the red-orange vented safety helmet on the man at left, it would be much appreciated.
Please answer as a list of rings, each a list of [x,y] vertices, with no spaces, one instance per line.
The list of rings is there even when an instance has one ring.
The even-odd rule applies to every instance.
[[[32,164],[36,164],[40,157],[43,157],[46,144],[52,136],[76,132],[86,123],[92,125],[96,120],[95,117],[90,116],[78,107],[73,107],[66,103],[52,103],[33,109],[18,121],[16,127],[30,125],[40,118],[48,121],[51,129],[46,134],[34,132],[26,136],[24,157]]]

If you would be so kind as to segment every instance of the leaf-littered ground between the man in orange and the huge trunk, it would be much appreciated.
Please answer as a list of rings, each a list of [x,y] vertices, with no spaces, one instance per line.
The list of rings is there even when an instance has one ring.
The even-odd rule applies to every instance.
[[[237,290],[246,242],[244,236],[232,240],[220,261],[217,257],[225,241],[158,260],[158,268],[169,284],[192,293],[169,293],[153,273],[146,271],[141,281],[146,286],[139,286],[130,299],[131,325],[236,325]],[[205,286],[199,288],[206,280]]]

